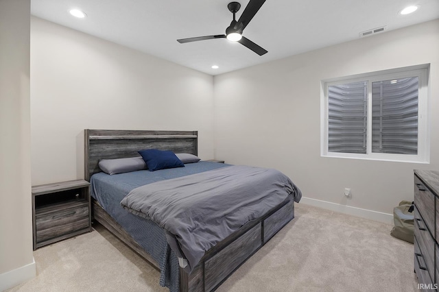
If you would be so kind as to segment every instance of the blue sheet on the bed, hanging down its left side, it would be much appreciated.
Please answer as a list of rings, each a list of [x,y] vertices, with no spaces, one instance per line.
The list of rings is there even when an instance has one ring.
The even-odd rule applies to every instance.
[[[228,165],[224,163],[200,161],[186,164],[185,167],[158,171],[142,170],[115,175],[95,173],[90,180],[91,196],[156,260],[161,269],[161,286],[168,287],[169,291],[174,292],[179,288],[180,267],[176,254],[167,244],[165,230],[150,219],[133,215],[123,209],[120,202],[132,189],[139,186],[226,166]]]

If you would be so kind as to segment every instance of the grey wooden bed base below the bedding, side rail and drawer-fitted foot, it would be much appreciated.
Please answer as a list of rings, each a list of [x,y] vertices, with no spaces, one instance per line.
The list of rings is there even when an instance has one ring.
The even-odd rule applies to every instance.
[[[160,270],[158,263],[94,199],[92,206],[94,220],[115,234],[150,265]],[[293,218],[294,201],[291,200],[264,217],[247,223],[238,232],[209,250],[190,275],[180,268],[180,291],[204,292],[217,289]]]

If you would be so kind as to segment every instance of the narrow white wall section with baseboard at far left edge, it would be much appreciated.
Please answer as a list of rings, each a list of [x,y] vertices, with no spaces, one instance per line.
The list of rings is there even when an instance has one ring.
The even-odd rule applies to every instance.
[[[0,291],[35,276],[29,17],[30,0],[0,1]]]

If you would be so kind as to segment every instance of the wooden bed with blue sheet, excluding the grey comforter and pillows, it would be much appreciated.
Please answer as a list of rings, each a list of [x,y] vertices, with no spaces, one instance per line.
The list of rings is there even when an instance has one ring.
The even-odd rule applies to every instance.
[[[174,153],[198,155],[196,131],[148,130],[84,130],[85,177],[91,182],[93,220],[98,221],[121,241],[161,271],[160,283],[174,291],[214,291],[233,271],[269,241],[294,218],[294,200],[300,191],[287,196],[281,203],[264,211],[202,256],[190,273],[182,264],[178,251],[174,252],[165,230],[147,217],[134,215],[121,206],[121,198],[142,184],[158,180],[178,179],[190,174],[207,173],[228,167],[222,163],[200,161],[181,169],[162,171],[133,171],[121,175],[106,175],[99,169],[102,159],[139,156],[141,149],[170,150]],[[158,173],[158,172],[156,172]],[[163,175],[165,173],[165,175]],[[114,181],[115,180],[115,181]],[[142,183],[139,183],[142,181]],[[143,181],[145,181],[143,183]],[[146,235],[145,235],[146,234]]]

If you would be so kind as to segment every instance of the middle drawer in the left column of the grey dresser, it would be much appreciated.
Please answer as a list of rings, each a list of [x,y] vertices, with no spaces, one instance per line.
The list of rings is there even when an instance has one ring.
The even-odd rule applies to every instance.
[[[419,215],[418,208],[414,209],[414,236],[416,236],[416,241],[418,242],[420,250],[422,250],[423,260],[429,271],[431,279],[434,279],[435,274],[435,263],[434,263],[434,250],[436,248],[436,243],[431,237],[430,232],[425,228],[425,222],[423,217]],[[416,259],[416,255],[415,255]]]

